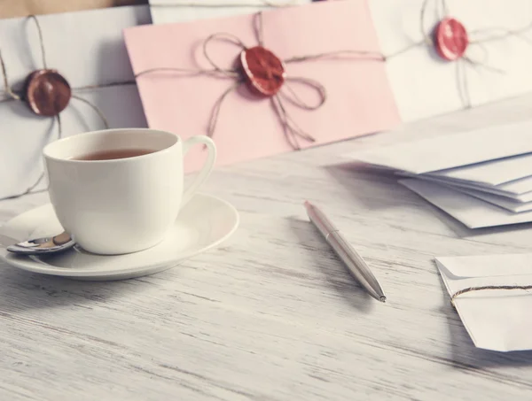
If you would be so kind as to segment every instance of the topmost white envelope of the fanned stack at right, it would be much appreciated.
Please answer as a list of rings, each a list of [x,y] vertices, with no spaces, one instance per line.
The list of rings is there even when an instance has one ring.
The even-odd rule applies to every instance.
[[[525,121],[356,151],[346,158],[424,174],[530,152],[532,122]]]

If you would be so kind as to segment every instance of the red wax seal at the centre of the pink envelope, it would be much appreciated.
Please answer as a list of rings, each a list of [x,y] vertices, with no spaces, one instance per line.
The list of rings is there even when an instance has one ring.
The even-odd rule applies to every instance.
[[[262,46],[243,50],[240,63],[248,88],[256,94],[274,96],[285,82],[283,62]]]

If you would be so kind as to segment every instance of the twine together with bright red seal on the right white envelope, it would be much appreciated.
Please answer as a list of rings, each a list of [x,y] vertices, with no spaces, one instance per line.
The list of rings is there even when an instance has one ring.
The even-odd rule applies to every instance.
[[[435,2],[435,18],[438,22],[434,27],[434,31],[429,34],[426,32],[425,28],[426,10],[428,5],[432,2]],[[517,37],[532,46],[532,39],[529,39],[524,35],[528,30],[532,29],[532,23],[515,30],[504,27],[489,27],[467,31],[465,26],[458,21],[458,19],[450,17],[447,0],[425,0],[421,5],[419,12],[419,26],[423,37],[421,41],[413,42],[402,50],[387,55],[386,58],[396,58],[411,49],[419,46],[427,46],[436,50],[436,53],[442,60],[455,62],[458,95],[466,109],[472,107],[466,66],[473,66],[473,68],[482,67],[492,73],[505,73],[501,69],[489,66],[489,51],[484,46],[485,43],[504,40],[509,37]],[[499,35],[482,38],[481,35],[485,34]],[[466,50],[472,45],[478,47],[483,52],[483,60],[474,60],[466,55]]]

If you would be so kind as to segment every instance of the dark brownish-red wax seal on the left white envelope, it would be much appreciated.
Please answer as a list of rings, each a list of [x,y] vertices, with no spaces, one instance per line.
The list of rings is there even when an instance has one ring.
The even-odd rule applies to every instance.
[[[25,100],[35,114],[53,117],[65,110],[72,89],[56,70],[37,70],[26,79]]]

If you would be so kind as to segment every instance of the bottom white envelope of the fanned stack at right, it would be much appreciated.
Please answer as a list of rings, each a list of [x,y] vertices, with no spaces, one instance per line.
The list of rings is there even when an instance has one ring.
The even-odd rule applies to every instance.
[[[445,185],[419,179],[400,180],[399,183],[469,228],[497,227],[532,221],[532,212],[510,212]]]

